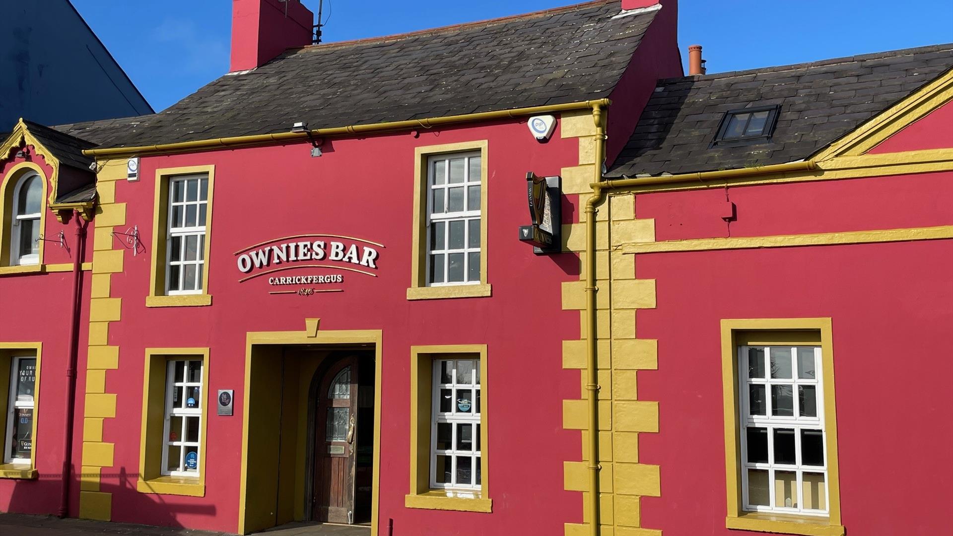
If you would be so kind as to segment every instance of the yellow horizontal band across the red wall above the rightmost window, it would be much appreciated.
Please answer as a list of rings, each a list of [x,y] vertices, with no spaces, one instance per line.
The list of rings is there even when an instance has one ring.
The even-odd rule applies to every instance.
[[[953,238],[953,225],[918,227],[913,229],[885,229],[879,231],[846,231],[812,235],[781,235],[776,237],[696,238],[661,242],[629,243],[621,246],[622,253],[671,253],[725,249],[782,248],[798,246],[828,246],[839,244],[867,244],[875,242],[903,242]]]

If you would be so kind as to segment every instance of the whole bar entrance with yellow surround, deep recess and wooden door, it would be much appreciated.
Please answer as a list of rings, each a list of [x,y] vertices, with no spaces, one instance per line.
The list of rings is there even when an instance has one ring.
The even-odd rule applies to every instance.
[[[307,327],[248,334],[240,534],[377,526],[381,333]]]

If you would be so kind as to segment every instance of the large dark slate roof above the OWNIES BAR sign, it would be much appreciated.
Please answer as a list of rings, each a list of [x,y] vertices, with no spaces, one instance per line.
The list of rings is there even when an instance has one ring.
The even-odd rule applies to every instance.
[[[168,110],[57,129],[102,147],[343,127],[602,98],[658,10],[619,0],[304,47],[226,74]],[[134,125],[132,123],[135,123]]]

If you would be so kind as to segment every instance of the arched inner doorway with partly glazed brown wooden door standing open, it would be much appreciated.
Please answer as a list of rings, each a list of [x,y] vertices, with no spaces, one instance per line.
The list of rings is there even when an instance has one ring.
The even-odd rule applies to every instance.
[[[311,481],[308,519],[368,525],[374,482],[375,357],[336,351],[314,371],[309,389]]]

